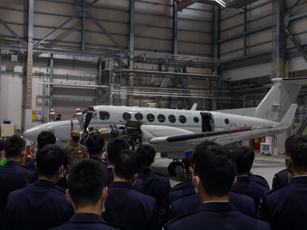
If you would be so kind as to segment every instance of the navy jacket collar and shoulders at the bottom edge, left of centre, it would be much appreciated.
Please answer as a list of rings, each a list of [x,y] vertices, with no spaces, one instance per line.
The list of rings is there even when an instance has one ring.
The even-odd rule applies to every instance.
[[[95,213],[76,213],[67,223],[53,224],[45,229],[52,230],[115,230],[126,229],[117,224],[107,224],[101,216]]]

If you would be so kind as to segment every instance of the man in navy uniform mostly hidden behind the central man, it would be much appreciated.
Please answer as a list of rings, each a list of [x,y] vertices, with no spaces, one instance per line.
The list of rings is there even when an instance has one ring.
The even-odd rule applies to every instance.
[[[119,154],[121,151],[124,151],[126,149],[130,149],[130,145],[128,141],[126,141],[122,137],[116,137],[112,138],[108,143],[107,148],[107,154],[105,154],[106,158],[108,159],[108,168],[106,169],[107,172],[107,184],[106,186],[109,186],[111,182],[114,181],[114,174],[112,172],[112,167],[115,164],[115,159],[117,154]],[[142,191],[143,189],[143,182],[140,179],[137,179],[134,186],[132,186],[134,189]]]

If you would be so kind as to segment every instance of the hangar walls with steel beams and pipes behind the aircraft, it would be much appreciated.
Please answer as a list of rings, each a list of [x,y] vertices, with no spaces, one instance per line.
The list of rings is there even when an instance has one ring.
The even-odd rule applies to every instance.
[[[306,9],[300,0],[0,1],[0,123],[22,134],[50,109],[68,118],[89,105],[255,107],[270,79],[305,76]]]

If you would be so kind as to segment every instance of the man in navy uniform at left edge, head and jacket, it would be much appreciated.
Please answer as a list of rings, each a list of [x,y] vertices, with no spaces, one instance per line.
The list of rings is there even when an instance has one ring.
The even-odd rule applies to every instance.
[[[38,179],[38,174],[28,167],[21,166],[25,157],[25,141],[17,135],[9,136],[4,142],[5,157],[7,161],[0,167],[0,217],[6,199],[10,192],[17,188],[31,184]]]

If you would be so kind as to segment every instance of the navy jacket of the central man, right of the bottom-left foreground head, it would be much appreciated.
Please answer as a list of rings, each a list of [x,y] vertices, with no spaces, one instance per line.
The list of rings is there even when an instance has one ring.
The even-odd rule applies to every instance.
[[[112,182],[104,206],[106,211],[101,216],[107,223],[133,230],[158,229],[156,199],[133,189],[129,182]]]

